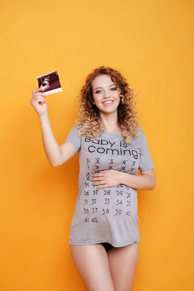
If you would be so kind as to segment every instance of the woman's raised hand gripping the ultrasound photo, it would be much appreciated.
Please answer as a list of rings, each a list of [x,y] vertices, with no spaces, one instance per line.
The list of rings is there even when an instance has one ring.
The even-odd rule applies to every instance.
[[[30,103],[32,104],[35,112],[40,117],[48,113],[48,109],[47,109],[47,103],[45,99],[47,95],[39,91],[41,91],[41,88],[32,90],[32,98],[30,100]]]

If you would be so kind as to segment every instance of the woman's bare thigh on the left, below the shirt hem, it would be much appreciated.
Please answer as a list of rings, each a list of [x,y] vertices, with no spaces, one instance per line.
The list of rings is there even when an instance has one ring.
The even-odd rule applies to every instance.
[[[114,291],[107,252],[100,243],[70,245],[70,250],[87,291]]]

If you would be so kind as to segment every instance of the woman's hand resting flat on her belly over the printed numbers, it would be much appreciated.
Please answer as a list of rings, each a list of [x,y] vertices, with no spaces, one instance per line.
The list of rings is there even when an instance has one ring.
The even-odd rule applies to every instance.
[[[107,187],[114,187],[120,184],[122,172],[115,170],[104,170],[97,174],[91,175],[90,181],[95,181],[92,185],[98,186],[97,189],[104,189]]]

